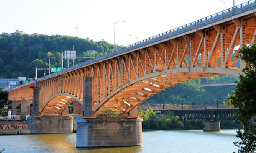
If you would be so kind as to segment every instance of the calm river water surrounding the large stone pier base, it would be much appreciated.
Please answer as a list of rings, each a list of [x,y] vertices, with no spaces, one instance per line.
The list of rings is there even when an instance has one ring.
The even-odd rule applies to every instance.
[[[3,135],[0,149],[4,153],[232,153],[236,130],[202,132],[202,130],[148,131],[143,146],[112,148],[76,148],[76,134]]]

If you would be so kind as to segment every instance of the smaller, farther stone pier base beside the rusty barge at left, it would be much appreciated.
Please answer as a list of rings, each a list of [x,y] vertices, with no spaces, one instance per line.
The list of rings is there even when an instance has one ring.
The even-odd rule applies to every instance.
[[[28,117],[31,134],[73,133],[73,117],[38,116]]]

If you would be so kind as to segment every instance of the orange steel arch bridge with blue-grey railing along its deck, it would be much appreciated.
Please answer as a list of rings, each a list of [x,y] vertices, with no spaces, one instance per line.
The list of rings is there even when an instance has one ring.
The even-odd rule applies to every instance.
[[[235,46],[253,44],[255,13],[255,0],[243,3],[21,85],[7,91],[8,100],[34,99],[36,88],[38,114],[61,114],[72,101],[83,103],[84,80],[92,77],[92,116],[120,112],[128,117],[143,101],[178,83],[241,74],[246,63],[232,54]]]

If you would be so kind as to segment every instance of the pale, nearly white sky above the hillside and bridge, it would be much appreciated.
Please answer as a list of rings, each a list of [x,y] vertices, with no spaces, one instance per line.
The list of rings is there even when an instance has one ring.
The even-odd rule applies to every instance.
[[[16,30],[129,45],[225,9],[233,0],[0,0],[0,33]],[[247,0],[235,0],[235,5]],[[134,36],[129,36],[129,35]]]

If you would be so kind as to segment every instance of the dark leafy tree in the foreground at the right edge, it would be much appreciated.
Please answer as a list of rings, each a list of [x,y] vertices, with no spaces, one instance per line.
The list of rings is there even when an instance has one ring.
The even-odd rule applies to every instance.
[[[237,146],[238,152],[254,152],[256,151],[256,45],[251,47],[243,46],[240,49],[242,60],[247,64],[243,69],[244,75],[240,75],[240,82],[233,90],[233,95],[229,95],[229,103],[239,108],[240,120],[244,125],[244,131],[240,129],[236,137],[241,142],[233,142]]]

